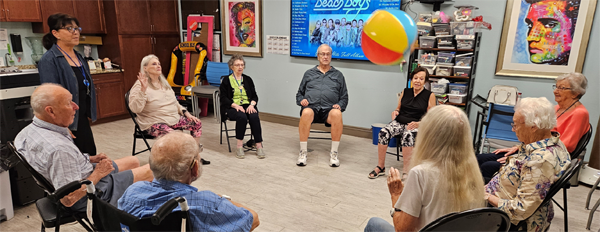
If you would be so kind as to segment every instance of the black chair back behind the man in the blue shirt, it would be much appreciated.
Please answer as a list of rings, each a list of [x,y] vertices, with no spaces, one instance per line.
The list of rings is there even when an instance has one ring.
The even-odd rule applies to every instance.
[[[138,218],[99,199],[90,186],[87,190],[88,200],[92,201],[92,218],[98,231],[193,231],[184,197],[176,197],[165,202],[152,217]],[[177,205],[181,206],[182,210],[172,212]]]

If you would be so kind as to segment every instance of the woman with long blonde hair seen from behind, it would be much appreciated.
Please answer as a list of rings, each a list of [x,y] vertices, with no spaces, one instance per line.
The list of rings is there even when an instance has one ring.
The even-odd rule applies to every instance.
[[[371,218],[366,232],[418,231],[448,213],[485,206],[469,119],[462,110],[431,108],[421,120],[417,141],[406,183],[395,168],[388,175],[393,226]]]

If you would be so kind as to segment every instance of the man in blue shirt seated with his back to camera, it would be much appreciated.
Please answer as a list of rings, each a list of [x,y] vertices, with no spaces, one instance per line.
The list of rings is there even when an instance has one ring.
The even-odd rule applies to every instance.
[[[150,154],[155,179],[131,185],[119,200],[119,209],[139,218],[149,217],[168,200],[185,197],[194,231],[254,230],[259,225],[256,212],[190,185],[202,175],[200,152],[189,134],[173,131],[158,139]]]

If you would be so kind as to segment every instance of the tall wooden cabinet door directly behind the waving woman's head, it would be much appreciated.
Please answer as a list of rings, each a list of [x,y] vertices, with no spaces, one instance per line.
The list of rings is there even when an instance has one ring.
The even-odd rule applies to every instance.
[[[121,40],[121,65],[124,71],[125,90],[137,80],[140,72],[142,58],[152,54],[152,37],[150,35],[120,35]]]

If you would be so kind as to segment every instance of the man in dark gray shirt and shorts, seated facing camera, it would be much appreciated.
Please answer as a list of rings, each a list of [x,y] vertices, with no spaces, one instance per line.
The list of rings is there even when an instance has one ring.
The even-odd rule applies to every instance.
[[[296,94],[296,104],[300,110],[300,154],[296,164],[306,165],[307,141],[312,123],[325,123],[331,125],[331,152],[329,153],[329,166],[338,167],[338,146],[344,125],[342,112],[348,106],[348,90],[344,75],[339,70],[331,67],[332,49],[327,44],[322,44],[317,49],[319,65],[304,73],[302,82]]]

